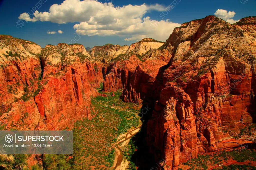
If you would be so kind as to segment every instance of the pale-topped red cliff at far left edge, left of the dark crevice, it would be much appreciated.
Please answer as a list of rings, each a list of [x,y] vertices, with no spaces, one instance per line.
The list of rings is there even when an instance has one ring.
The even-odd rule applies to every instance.
[[[24,86],[40,76],[41,47],[33,42],[0,36],[0,113],[10,110],[22,96]],[[24,48],[25,47],[25,48]]]

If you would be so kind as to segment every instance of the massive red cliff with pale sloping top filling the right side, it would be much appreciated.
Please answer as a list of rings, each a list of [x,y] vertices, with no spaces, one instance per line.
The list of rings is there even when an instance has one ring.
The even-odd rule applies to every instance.
[[[147,124],[148,145],[165,169],[251,142],[225,132],[255,116],[255,18],[241,21],[209,16],[176,28],[167,40],[173,55]]]

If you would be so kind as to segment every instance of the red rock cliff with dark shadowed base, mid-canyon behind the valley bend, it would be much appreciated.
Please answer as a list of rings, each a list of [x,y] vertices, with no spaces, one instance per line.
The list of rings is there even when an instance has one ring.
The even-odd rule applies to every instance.
[[[120,97],[125,102],[140,103],[153,97],[153,83],[159,77],[157,73],[168,64],[170,57],[171,52],[166,49],[153,49],[141,60],[132,55],[127,60],[116,62],[104,78],[103,90],[110,92],[124,89]]]

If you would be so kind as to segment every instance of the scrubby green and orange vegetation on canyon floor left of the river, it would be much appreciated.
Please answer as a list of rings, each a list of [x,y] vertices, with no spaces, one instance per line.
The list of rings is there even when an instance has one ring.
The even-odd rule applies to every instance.
[[[138,110],[129,109],[130,103],[119,99],[121,91],[105,93],[107,97],[92,98],[91,120],[78,120],[74,125],[74,154],[72,169],[111,169],[115,157],[114,145],[116,137],[126,132],[132,126],[138,126],[136,113]],[[138,105],[136,105],[139,107]],[[94,114],[93,112],[97,113]]]

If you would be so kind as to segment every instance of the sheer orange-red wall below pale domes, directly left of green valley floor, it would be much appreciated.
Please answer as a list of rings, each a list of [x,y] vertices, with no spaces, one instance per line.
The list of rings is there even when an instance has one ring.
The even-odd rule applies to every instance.
[[[35,96],[38,111],[48,129],[65,129],[79,117],[92,118],[90,96],[97,91],[89,84],[80,63],[73,64],[63,76],[46,78],[43,90]]]

